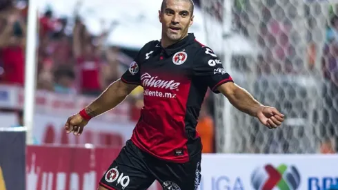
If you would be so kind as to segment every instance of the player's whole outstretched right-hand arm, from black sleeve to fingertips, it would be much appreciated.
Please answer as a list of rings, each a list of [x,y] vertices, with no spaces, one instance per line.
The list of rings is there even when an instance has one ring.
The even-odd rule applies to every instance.
[[[203,47],[195,55],[194,74],[214,93],[222,93],[239,111],[257,117],[268,128],[276,128],[284,121],[284,115],[276,108],[262,105],[248,91],[237,86],[210,48]]]

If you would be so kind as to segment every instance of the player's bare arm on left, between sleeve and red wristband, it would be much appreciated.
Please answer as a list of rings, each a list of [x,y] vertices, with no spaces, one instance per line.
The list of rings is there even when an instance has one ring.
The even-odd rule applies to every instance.
[[[84,109],[90,117],[96,117],[119,105],[138,85],[127,84],[118,79],[106,88],[94,102]]]

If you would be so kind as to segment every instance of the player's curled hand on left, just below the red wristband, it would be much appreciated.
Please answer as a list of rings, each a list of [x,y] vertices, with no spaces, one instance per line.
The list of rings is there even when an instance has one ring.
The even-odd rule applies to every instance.
[[[74,133],[74,135],[81,135],[84,126],[88,124],[88,121],[83,119],[79,113],[68,117],[68,120],[65,124],[65,129],[67,133]]]

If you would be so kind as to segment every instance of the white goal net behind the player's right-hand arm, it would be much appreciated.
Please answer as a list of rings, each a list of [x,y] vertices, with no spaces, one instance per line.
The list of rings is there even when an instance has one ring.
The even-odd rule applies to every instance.
[[[215,95],[218,152],[337,151],[335,7],[310,0],[201,0],[208,45],[221,43],[217,54],[228,73],[286,115],[281,128],[270,130]],[[222,39],[210,39],[215,36]]]

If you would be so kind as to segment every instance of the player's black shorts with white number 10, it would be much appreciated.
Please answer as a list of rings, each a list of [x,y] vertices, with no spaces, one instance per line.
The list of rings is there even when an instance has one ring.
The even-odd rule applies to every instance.
[[[110,190],[146,190],[157,180],[163,189],[197,190],[200,163],[201,153],[192,156],[190,162],[178,164],[159,160],[128,140],[99,184]]]

